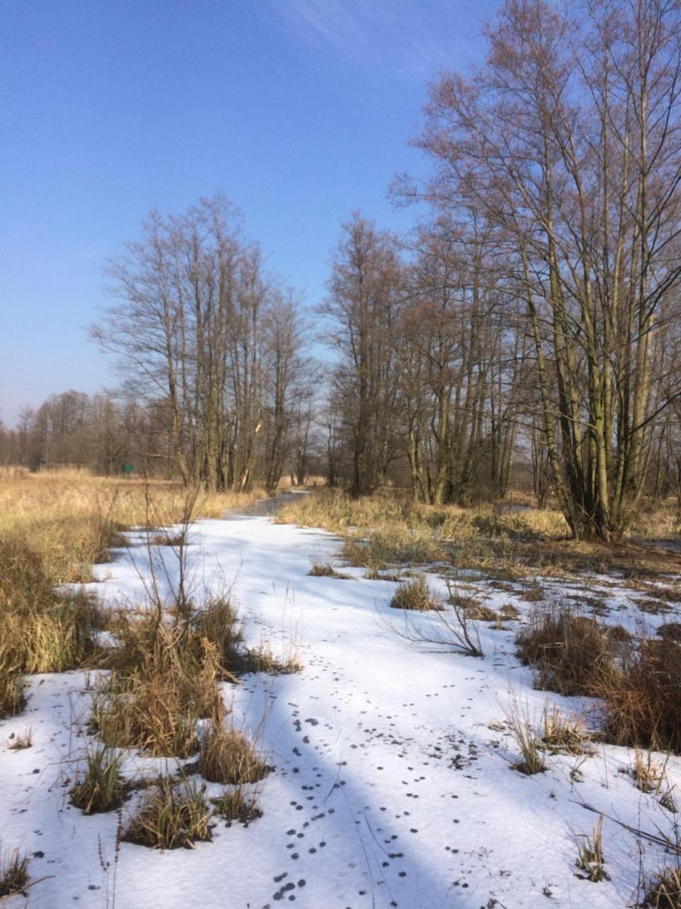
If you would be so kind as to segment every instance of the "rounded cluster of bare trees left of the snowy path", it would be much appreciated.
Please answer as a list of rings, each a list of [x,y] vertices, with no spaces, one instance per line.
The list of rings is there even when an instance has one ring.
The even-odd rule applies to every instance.
[[[163,402],[185,483],[275,489],[295,448],[305,473],[314,365],[295,299],[221,196],[152,215],[108,271],[114,305],[92,335],[118,357],[123,386]]]

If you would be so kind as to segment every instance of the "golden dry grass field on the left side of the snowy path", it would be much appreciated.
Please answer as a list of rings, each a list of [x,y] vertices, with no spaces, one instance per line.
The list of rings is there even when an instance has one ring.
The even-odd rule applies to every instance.
[[[83,471],[1,472],[0,716],[22,709],[22,674],[94,665],[101,655],[97,604],[57,585],[90,580],[91,566],[123,542],[123,527],[171,525],[188,517],[190,504],[196,516],[214,516],[243,501]]]

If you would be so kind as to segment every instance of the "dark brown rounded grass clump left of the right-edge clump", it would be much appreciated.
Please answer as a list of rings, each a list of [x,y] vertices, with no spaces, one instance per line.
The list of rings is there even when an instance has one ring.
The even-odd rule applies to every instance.
[[[536,687],[559,694],[596,694],[597,675],[613,666],[603,628],[567,605],[535,608],[516,644],[522,662],[535,671]]]

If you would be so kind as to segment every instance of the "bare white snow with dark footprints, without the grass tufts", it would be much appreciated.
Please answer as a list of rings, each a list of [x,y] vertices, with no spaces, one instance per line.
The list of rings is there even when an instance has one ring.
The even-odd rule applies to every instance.
[[[232,584],[249,640],[270,641],[275,652],[291,640],[300,644],[300,674],[252,675],[224,686],[237,722],[254,729],[264,720],[262,747],[276,769],[260,784],[263,815],[248,826],[216,819],[212,843],[193,850],[123,843],[114,863],[116,814],[86,817],[68,801],[87,741],[93,679],[33,676],[25,712],[0,722],[0,848],[33,856],[31,877],[44,878],[27,891],[33,909],[605,909],[636,902],[639,844],[622,824],[667,833],[674,815],[623,772],[633,762],[624,748],[597,745],[572,775],[581,759],[560,754],[547,756],[544,774],[511,769],[518,752],[502,725],[509,697],[537,717],[547,697],[566,714],[587,705],[532,689],[515,656],[517,622],[504,630],[480,623],[483,659],[442,652],[391,630],[404,622],[390,609],[394,583],[366,580],[353,568],[342,569],[350,580],[308,575],[313,560],[338,552],[330,534],[243,516],[198,522],[191,542],[196,590]],[[137,546],[98,566],[105,602],[143,599],[146,559]],[[169,578],[161,583],[173,584],[166,547],[164,561]],[[598,584],[588,584],[589,594]],[[562,593],[583,596],[586,586]],[[529,604],[516,594],[487,592],[492,608],[513,603],[527,614]],[[621,584],[603,585],[602,594],[606,621],[632,629],[637,620],[663,621],[639,613],[637,594]],[[410,619],[438,621],[435,614]],[[9,750],[10,735],[29,725],[33,746]],[[126,770],[149,763],[131,754]],[[681,782],[678,758],[669,760],[667,776]],[[575,876],[577,836],[597,821],[584,803],[606,814],[609,882]],[[646,873],[665,864],[660,850],[644,848]],[[22,896],[7,901],[12,909],[24,904]]]

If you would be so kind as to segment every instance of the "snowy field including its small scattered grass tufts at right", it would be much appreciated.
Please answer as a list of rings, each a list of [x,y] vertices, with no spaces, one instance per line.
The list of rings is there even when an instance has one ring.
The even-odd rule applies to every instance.
[[[307,502],[291,507],[279,520],[312,523]],[[617,650],[636,646],[630,635],[668,641],[681,630],[675,554],[659,555],[656,574],[584,560],[538,569],[507,539],[502,573],[480,548],[426,558],[419,538],[395,558],[371,548],[370,528],[337,535],[267,511],[128,532],[70,588],[110,615],[227,597],[240,646],[270,671],[222,674],[219,717],[252,741],[262,774],[206,782],[192,748],[112,746],[121,798],[85,814],[74,787],[123,669],[30,674],[24,709],[0,720],[3,869],[28,859],[8,909],[676,905],[650,882],[677,867],[678,748],[613,744],[603,701],[538,690],[542,666],[523,664],[516,643],[542,609],[605,628],[617,665],[632,659]],[[393,600],[407,588],[413,602]],[[101,652],[120,643],[115,627],[98,632]],[[208,721],[198,729],[201,743]],[[30,746],[16,747],[22,737]],[[125,841],[159,774],[203,805],[192,848]],[[241,820],[213,809],[231,792],[252,808]]]

